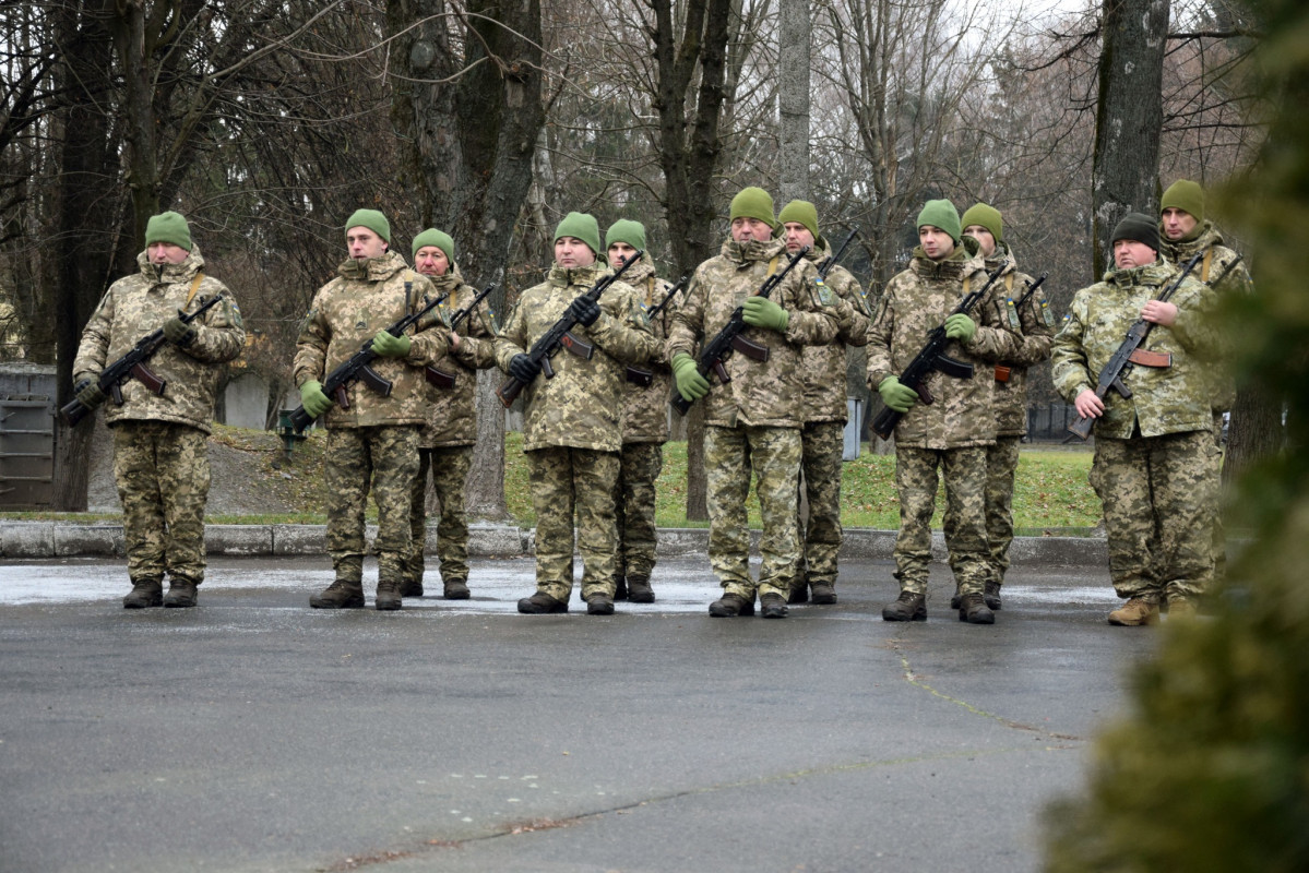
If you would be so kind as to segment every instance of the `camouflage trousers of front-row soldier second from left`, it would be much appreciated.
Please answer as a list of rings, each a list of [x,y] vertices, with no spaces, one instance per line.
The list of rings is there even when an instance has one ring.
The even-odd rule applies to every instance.
[[[399,580],[410,551],[410,488],[418,476],[416,425],[327,429],[327,554],[336,579],[364,577],[364,509],[377,504],[377,575]]]

